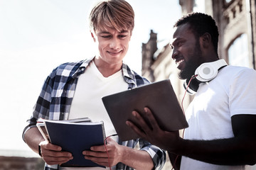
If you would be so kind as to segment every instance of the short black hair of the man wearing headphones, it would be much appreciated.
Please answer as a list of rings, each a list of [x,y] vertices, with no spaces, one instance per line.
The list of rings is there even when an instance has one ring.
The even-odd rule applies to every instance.
[[[216,26],[213,17],[205,13],[188,13],[186,16],[180,18],[174,27],[189,23],[195,35],[199,38],[204,33],[209,33],[213,42],[213,47],[218,55],[218,26]]]

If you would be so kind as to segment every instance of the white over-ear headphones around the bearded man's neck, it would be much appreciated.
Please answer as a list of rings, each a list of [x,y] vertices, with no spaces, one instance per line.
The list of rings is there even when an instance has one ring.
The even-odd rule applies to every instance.
[[[187,89],[188,87],[188,94],[192,94],[192,95],[196,94],[199,84],[205,83],[214,79],[217,76],[218,71],[227,65],[228,64],[223,59],[217,60],[215,62],[205,62],[201,64],[196,69],[196,72],[194,74],[195,79],[191,80],[191,83],[189,84],[189,86],[188,86],[188,82],[190,81],[190,79],[186,79],[186,81],[183,84],[184,88]]]

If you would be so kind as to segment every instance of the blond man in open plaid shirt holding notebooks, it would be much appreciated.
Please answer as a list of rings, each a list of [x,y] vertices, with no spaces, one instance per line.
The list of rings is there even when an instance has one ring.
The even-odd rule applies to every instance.
[[[53,69],[23,131],[23,140],[41,155],[46,162],[45,169],[102,168],[59,166],[73,156],[70,152],[63,152],[61,146],[43,140],[36,128],[38,118],[68,120],[89,117],[92,121],[103,120],[106,135],[113,135],[116,132],[102,104],[102,96],[149,84],[123,62],[134,28],[134,11],[127,1],[110,0],[97,4],[90,13],[90,28],[97,45],[96,55]],[[138,143],[139,149],[134,149]],[[118,137],[110,137],[107,139],[107,151],[108,154],[102,145],[82,154],[85,159],[112,169],[161,169],[166,159],[162,149],[140,139],[120,141]]]

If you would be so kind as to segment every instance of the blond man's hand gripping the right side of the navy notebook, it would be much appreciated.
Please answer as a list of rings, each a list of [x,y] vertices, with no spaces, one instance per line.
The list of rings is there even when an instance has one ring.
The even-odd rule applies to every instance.
[[[109,137],[107,138],[107,145],[93,146],[90,151],[83,151],[82,154],[85,155],[85,159],[90,159],[92,162],[102,166],[114,166],[121,162],[121,147]],[[108,158],[110,159],[110,164]]]

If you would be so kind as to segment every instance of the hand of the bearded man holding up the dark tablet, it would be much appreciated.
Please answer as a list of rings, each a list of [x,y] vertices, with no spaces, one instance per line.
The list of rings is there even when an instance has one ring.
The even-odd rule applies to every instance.
[[[129,127],[132,128],[134,132],[136,132],[144,140],[147,140],[151,144],[169,151],[172,151],[177,147],[178,141],[181,140],[181,137],[178,135],[178,131],[168,132],[161,130],[149,108],[144,108],[144,113],[133,111],[132,115],[137,118],[137,123],[141,126],[141,128],[138,128],[137,125],[129,120],[127,120],[127,125],[129,125]],[[150,125],[146,123],[141,115],[149,120],[148,122]]]

